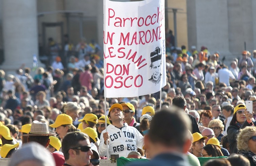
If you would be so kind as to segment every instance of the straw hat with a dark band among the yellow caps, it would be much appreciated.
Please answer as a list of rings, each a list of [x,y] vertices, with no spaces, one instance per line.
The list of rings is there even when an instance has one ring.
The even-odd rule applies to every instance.
[[[33,121],[31,124],[31,129],[29,134],[22,136],[54,136],[57,134],[50,134],[48,130],[48,125],[45,121]]]

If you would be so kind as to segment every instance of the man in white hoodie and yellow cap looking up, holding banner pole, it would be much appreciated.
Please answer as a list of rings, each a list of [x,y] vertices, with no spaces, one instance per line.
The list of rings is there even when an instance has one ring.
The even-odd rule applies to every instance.
[[[103,130],[103,134],[100,135],[100,156],[107,155],[107,146],[109,146],[109,155],[119,155],[119,157],[127,157],[131,151],[143,147],[143,136],[135,127],[123,122],[122,110],[122,105],[117,103],[110,108],[108,116],[112,124],[107,126],[107,132]]]

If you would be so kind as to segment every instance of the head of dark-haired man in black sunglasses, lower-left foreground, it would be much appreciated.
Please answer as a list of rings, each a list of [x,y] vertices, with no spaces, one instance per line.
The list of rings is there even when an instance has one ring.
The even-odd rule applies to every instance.
[[[89,137],[82,132],[68,133],[62,140],[62,152],[65,157],[64,166],[89,165],[93,155]]]

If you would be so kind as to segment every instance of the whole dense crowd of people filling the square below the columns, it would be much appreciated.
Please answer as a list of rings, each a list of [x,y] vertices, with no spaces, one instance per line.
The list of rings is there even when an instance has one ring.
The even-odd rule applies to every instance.
[[[56,56],[34,77],[24,66],[0,70],[0,155],[10,166],[96,166],[110,155],[151,159],[138,165],[256,165],[256,50],[227,67],[204,46],[172,48],[161,98],[106,102],[103,62],[82,53],[65,69]]]

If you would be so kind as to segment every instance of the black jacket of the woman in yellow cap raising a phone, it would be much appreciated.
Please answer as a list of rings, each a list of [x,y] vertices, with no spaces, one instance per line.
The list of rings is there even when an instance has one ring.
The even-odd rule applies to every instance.
[[[229,149],[230,153],[238,153],[237,149],[237,135],[239,134],[239,129],[242,129],[246,126],[251,126],[253,123],[251,122],[250,124],[245,120],[243,125],[239,127],[238,125],[231,125],[228,127],[228,141],[229,141]]]

